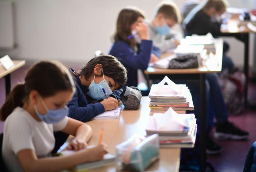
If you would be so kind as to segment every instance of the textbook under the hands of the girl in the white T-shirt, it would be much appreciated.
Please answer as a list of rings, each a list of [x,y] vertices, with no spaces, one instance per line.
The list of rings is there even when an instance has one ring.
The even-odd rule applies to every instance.
[[[73,154],[74,152],[75,152],[74,150],[64,150],[59,154],[61,156],[68,156],[68,155]],[[86,170],[91,170],[91,169],[99,168],[99,167],[106,166],[106,165],[111,165],[114,163],[115,163],[115,156],[110,153],[107,153],[107,154],[103,155],[102,160],[81,163],[81,164],[78,164],[78,165],[72,167],[72,169],[74,171],[86,171]]]

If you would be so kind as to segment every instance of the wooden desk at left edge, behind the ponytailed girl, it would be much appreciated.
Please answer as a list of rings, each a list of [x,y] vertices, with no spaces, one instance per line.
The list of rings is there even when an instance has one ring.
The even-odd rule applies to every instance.
[[[5,77],[5,95],[7,96],[11,91],[11,72],[21,68],[25,65],[25,60],[13,60],[14,66],[6,70],[0,63],[0,79]]]

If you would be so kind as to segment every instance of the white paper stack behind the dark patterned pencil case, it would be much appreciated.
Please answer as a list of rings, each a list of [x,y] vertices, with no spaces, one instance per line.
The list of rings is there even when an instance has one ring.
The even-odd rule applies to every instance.
[[[181,45],[191,45],[191,46],[198,46],[203,45],[204,49],[207,50],[207,52],[215,52],[215,39],[213,38],[213,35],[211,33],[208,33],[206,35],[193,35],[193,36],[186,36],[185,39],[181,40]],[[199,48],[198,48],[199,49]]]

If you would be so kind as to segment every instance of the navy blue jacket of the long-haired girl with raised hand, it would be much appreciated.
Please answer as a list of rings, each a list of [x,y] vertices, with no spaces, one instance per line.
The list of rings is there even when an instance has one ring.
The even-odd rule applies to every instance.
[[[124,41],[116,41],[109,51],[110,55],[118,58],[118,60],[127,69],[127,86],[138,85],[137,70],[146,70],[149,65],[151,54],[157,57],[161,56],[159,48],[153,46],[151,40],[141,40],[141,44],[137,44],[138,51],[135,52],[133,48]]]

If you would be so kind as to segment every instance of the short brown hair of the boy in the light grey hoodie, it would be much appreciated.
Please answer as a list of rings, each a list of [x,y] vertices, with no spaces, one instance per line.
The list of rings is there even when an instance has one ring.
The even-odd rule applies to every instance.
[[[165,18],[172,19],[176,23],[181,22],[181,13],[174,2],[163,1],[159,3],[156,8],[155,17],[160,13],[163,14]]]

